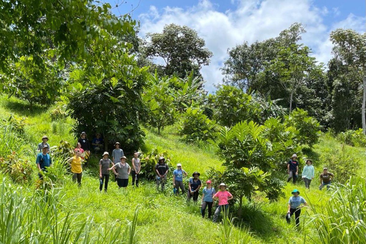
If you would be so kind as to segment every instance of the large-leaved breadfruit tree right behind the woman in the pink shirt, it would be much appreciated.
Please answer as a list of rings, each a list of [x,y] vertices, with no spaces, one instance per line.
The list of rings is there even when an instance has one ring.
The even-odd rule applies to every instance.
[[[211,168],[208,176],[229,183],[235,198],[239,199],[239,217],[244,196],[251,199],[258,190],[265,192],[270,200],[283,196],[283,183],[272,172],[284,146],[280,142],[271,143],[264,129],[253,121],[242,121],[232,128],[221,127],[216,140],[216,153],[224,161],[224,171]]]

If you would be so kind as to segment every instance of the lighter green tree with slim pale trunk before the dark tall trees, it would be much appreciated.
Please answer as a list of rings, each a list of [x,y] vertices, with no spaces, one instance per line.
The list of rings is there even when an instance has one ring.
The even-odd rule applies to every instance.
[[[322,66],[316,65],[310,53],[307,46],[292,44],[288,48],[281,47],[276,59],[271,61],[270,69],[279,76],[280,84],[290,94],[290,113],[296,90],[305,85],[312,74],[322,72]]]

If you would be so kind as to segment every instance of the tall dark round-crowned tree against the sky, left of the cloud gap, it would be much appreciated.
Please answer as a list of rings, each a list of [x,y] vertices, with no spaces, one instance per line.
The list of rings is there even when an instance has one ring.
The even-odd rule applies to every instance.
[[[161,57],[165,63],[160,67],[164,75],[184,78],[193,71],[194,76],[199,76],[201,65],[208,65],[212,57],[197,31],[187,26],[165,25],[162,33],[148,33],[146,37],[151,40],[146,44],[145,56]]]

